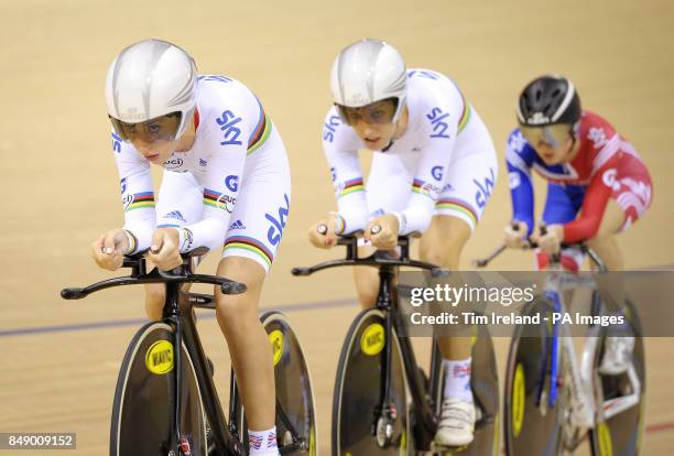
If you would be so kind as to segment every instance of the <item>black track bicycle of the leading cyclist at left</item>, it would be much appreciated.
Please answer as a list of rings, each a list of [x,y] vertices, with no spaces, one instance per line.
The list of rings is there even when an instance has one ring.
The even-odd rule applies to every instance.
[[[243,283],[194,272],[196,258],[206,251],[198,248],[184,254],[183,264],[168,272],[148,272],[143,253],[124,257],[130,275],[61,292],[66,300],[78,300],[112,286],[166,284],[162,319],[135,333],[121,363],[112,405],[111,456],[248,454],[246,413],[233,369],[228,422],[211,378],[213,363],[197,334],[194,307],[215,310],[214,296],[181,290],[186,283],[209,283],[224,294],[246,292]],[[314,397],[302,347],[280,312],[265,311],[260,319],[273,349],[279,450],[316,455]]]

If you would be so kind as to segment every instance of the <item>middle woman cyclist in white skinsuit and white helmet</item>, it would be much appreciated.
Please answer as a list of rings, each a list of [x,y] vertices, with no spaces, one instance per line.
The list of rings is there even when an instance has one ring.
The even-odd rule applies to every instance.
[[[331,89],[323,146],[339,211],[309,228],[312,242],[329,248],[337,235],[365,230],[374,248],[391,249],[398,235],[418,231],[422,260],[457,270],[498,174],[478,113],[448,77],[405,69],[399,52],[376,40],[337,56]],[[374,151],[367,192],[359,149]],[[361,304],[372,306],[377,271],[356,269],[355,280]],[[470,338],[439,340],[446,380],[435,439],[466,445],[475,424]]]

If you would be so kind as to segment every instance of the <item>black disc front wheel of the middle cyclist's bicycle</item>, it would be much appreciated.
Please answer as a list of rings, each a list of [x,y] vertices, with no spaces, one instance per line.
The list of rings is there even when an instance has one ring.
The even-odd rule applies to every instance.
[[[382,413],[382,365],[387,343],[391,344],[390,401],[388,411]],[[349,327],[337,365],[333,400],[333,455],[413,454],[407,445],[407,401],[398,337],[393,329],[387,334],[385,317],[381,311],[362,311]]]

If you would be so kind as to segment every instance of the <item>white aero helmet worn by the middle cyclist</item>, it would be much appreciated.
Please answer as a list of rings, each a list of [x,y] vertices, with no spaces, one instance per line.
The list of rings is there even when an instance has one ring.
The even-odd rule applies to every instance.
[[[366,39],[339,53],[333,64],[330,88],[337,105],[360,108],[395,98],[393,122],[405,105],[405,62],[395,47],[380,40]]]

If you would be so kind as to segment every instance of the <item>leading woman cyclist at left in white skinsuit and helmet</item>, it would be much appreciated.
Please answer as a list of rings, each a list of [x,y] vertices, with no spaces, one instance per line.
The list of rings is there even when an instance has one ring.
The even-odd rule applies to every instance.
[[[108,72],[106,98],[121,177],[124,226],[91,246],[106,269],[150,248],[162,270],[180,253],[224,247],[217,274],[246,283],[241,295],[216,287],[249,430],[250,455],[278,455],[272,350],[258,318],[267,272],[290,205],[285,148],[256,96],[225,76],[198,76],[182,48],[146,40],[123,50]],[[164,169],[154,202],[150,163]],[[146,286],[150,318],[162,316],[165,287]]]

